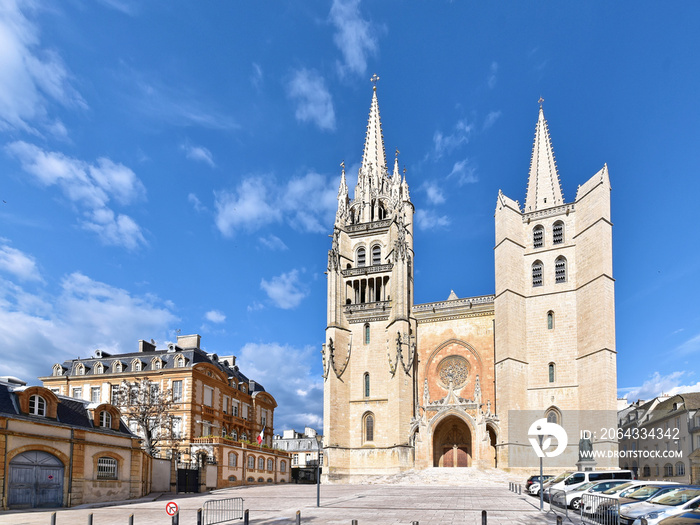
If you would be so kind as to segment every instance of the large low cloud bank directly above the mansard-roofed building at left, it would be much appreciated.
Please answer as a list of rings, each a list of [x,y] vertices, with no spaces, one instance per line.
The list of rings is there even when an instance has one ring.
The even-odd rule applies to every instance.
[[[0,375],[34,382],[56,362],[100,348],[135,351],[139,339],[162,337],[178,318],[174,306],[72,273],[57,295],[32,294],[0,279]]]

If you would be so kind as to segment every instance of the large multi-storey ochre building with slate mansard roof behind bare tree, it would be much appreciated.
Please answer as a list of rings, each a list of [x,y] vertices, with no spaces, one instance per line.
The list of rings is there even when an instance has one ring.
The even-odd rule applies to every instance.
[[[200,341],[199,335],[179,335],[165,349],[142,340],[138,352],[97,350],[88,358],[56,363],[40,380],[57,395],[119,404],[125,387],[147,379],[154,392],[167,392],[172,401],[170,428],[157,455],[216,464],[217,487],[288,481],[289,456],[272,449],[275,398],[239,370],[235,356],[205,352]],[[143,435],[137,421],[127,425]]]

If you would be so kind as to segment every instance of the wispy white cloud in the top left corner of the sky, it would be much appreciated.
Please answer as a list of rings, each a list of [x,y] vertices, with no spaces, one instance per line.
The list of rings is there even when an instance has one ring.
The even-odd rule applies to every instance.
[[[39,30],[23,13],[32,8],[32,3],[6,0],[0,9],[0,130],[51,126],[52,101],[86,107],[61,57],[40,47]]]

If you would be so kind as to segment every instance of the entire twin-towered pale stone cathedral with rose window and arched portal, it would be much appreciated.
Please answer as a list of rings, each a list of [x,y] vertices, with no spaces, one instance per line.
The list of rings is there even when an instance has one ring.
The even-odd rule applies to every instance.
[[[496,196],[494,294],[413,304],[415,208],[398,158],[387,166],[376,89],[352,199],[341,165],[328,252],[324,477],[533,470],[533,421],[616,427],[607,165],[564,202],[540,106],[525,205]],[[578,444],[570,435],[561,465],[575,468]]]

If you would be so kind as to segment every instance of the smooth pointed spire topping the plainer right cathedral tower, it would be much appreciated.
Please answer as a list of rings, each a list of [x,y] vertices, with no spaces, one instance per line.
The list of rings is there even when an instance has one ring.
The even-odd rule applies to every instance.
[[[564,204],[559,183],[557,163],[549,137],[549,127],[544,118],[542,99],[540,98],[540,115],[535,129],[535,142],[530,159],[530,176],[527,182],[525,213],[551,208]]]

